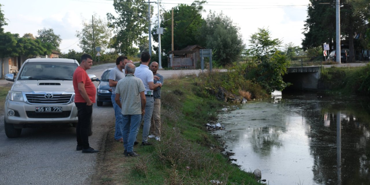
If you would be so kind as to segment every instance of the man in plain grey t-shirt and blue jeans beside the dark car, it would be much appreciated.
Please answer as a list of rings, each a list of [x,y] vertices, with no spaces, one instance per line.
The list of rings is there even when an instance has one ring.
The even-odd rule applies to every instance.
[[[112,104],[114,109],[115,115],[115,132],[114,132],[114,139],[118,142],[123,142],[122,138],[122,114],[121,108],[115,102],[115,90],[119,80],[125,77],[125,73],[122,71],[127,64],[127,57],[126,56],[119,56],[116,59],[116,67],[114,67],[109,73],[109,86],[112,87]]]

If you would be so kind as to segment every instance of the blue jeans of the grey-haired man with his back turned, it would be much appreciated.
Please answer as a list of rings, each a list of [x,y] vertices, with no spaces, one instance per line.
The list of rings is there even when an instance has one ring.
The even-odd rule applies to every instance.
[[[122,115],[122,114],[121,114]],[[141,114],[135,115],[122,115],[123,123],[123,147],[127,152],[132,152],[134,149],[134,142],[138,134],[139,123]]]

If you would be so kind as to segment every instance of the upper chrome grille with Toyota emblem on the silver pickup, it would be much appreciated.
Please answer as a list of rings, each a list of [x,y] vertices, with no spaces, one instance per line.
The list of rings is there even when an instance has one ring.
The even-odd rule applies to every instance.
[[[46,99],[45,94],[26,94],[31,104],[66,104],[70,102],[72,94],[53,94],[53,98]]]

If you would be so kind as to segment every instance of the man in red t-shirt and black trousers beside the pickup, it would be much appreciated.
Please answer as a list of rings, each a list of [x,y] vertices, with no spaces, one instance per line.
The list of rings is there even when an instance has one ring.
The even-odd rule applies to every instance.
[[[86,73],[92,65],[92,57],[89,54],[81,56],[81,65],[73,73],[74,103],[78,111],[78,123],[76,127],[77,147],[82,153],[97,153],[98,150],[91,148],[89,144],[89,130],[92,116],[92,103],[95,103],[96,88]]]

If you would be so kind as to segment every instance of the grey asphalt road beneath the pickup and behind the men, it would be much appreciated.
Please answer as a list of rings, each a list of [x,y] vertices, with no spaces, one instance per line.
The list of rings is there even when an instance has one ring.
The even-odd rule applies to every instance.
[[[102,64],[87,70],[100,78],[106,68]],[[201,70],[158,71],[165,78],[173,75],[197,74]],[[12,83],[0,80],[0,85]],[[94,82],[97,86],[98,82]],[[114,127],[114,111],[110,103],[93,105],[93,131],[89,137],[92,148]],[[97,154],[76,151],[75,128],[24,128],[19,138],[7,138],[4,112],[0,112],[0,185],[86,185],[94,174]],[[114,138],[112,138],[114,142]]]

